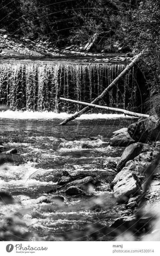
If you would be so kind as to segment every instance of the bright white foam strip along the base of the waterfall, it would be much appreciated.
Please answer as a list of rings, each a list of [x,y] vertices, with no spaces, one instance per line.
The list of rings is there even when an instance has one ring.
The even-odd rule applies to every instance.
[[[0,113],[0,118],[7,119],[65,119],[72,114],[56,113],[56,112],[33,112],[33,111],[11,111],[7,110]],[[83,119],[116,119],[116,118],[133,118],[133,116],[128,116],[124,114],[84,114],[77,117],[79,120]]]

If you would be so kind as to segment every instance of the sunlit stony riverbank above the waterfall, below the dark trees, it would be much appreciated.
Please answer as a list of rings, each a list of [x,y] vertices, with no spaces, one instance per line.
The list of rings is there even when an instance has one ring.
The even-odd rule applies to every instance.
[[[56,47],[49,40],[41,41],[37,39],[32,41],[28,38],[17,38],[5,32],[5,30],[0,31],[0,57],[92,57],[90,59],[83,59],[83,62],[129,62],[136,54],[127,53],[119,54],[115,57],[106,58],[106,53],[98,52],[87,52],[84,51],[83,47],[79,46],[66,46],[62,49]],[[82,60],[82,59],[81,59]],[[77,60],[78,61],[78,60]]]

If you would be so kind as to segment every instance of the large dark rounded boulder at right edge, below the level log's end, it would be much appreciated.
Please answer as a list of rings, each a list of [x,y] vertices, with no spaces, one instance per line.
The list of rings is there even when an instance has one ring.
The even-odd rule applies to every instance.
[[[137,142],[147,143],[160,140],[160,118],[152,115],[128,127],[129,135]]]

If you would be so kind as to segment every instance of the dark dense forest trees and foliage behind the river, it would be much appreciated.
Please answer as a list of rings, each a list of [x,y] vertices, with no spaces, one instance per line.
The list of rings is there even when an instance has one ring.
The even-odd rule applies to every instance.
[[[157,112],[159,7],[158,0],[1,0],[0,28],[17,39],[38,39],[58,48],[84,46],[94,33],[112,31],[104,40],[105,51],[146,50],[140,68],[152,88],[148,103]]]

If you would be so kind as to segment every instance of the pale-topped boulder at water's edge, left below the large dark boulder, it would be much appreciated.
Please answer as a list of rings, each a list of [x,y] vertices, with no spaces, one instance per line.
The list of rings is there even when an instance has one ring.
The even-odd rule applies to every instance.
[[[127,128],[122,128],[110,138],[109,145],[110,146],[119,146],[119,147],[126,147],[130,144],[133,144],[135,141],[129,135]]]

